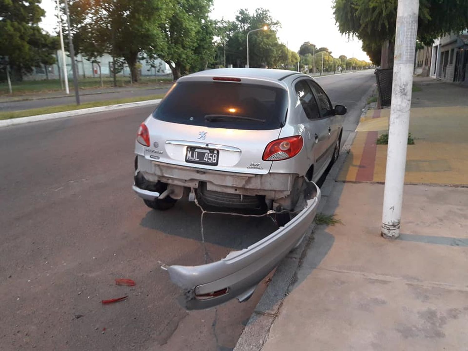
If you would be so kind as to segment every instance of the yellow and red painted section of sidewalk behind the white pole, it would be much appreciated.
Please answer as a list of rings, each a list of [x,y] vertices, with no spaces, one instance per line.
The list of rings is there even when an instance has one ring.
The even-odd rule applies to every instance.
[[[385,181],[387,146],[375,146],[375,132],[388,130],[389,114],[390,110],[367,111],[338,180]],[[468,185],[467,106],[411,109],[409,131],[415,145],[408,146],[406,183]]]

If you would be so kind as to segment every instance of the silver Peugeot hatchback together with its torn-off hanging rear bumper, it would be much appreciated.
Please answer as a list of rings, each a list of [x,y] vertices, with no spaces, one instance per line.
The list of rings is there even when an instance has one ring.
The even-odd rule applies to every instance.
[[[320,200],[314,182],[338,157],[345,113],[297,72],[228,68],[177,80],[139,127],[133,190],[157,210],[188,196],[202,207],[256,209],[278,223],[220,261],[165,265],[184,307],[247,300],[298,245]]]

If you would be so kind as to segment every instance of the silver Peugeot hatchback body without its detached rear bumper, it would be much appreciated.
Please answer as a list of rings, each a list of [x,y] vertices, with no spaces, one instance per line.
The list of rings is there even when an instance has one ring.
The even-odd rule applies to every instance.
[[[306,74],[227,68],[187,75],[140,125],[133,189],[158,210],[187,189],[207,205],[291,210],[294,190],[336,160],[344,113]]]

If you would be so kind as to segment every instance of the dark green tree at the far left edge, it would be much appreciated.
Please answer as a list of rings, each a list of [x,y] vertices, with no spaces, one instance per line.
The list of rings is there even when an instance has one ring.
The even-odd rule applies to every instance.
[[[55,62],[58,41],[38,26],[44,16],[40,0],[0,0],[0,60],[22,79],[33,67]]]

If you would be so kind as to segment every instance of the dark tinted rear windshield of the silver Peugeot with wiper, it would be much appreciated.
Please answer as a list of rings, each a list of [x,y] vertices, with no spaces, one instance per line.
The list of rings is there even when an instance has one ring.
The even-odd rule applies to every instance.
[[[176,83],[153,112],[166,122],[215,128],[281,128],[287,111],[282,88],[223,81]]]

